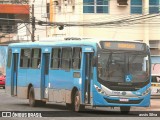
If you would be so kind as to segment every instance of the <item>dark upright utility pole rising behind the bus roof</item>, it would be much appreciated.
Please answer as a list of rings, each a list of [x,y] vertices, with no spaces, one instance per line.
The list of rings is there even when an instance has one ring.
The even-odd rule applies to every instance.
[[[35,32],[35,17],[34,17],[34,4],[32,4],[32,34],[31,34],[31,40],[32,42],[35,41],[34,39],[34,32]]]

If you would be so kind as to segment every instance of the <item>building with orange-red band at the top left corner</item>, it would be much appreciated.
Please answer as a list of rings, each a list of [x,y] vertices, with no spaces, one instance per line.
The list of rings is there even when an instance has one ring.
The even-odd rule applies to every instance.
[[[20,39],[19,35],[28,36],[28,31],[24,29],[29,21],[29,5],[27,0],[0,0],[0,42],[12,42]],[[29,26],[28,26],[29,27]],[[23,28],[23,29],[20,29]],[[17,38],[18,37],[18,38]]]

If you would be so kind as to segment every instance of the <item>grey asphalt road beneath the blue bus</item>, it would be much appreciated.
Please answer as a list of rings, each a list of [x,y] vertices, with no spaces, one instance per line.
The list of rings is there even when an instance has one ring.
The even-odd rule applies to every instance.
[[[66,109],[65,104],[57,104],[57,103],[47,103],[45,106],[41,107],[30,107],[28,105],[28,100],[26,99],[19,99],[16,97],[11,97],[10,95],[6,94],[5,90],[0,88],[0,111],[2,112],[10,112],[12,116],[11,118],[3,118],[3,119],[10,119],[14,120],[17,119],[18,115],[23,117],[31,117],[27,119],[34,119],[34,120],[39,120],[39,119],[47,119],[47,120],[57,120],[57,119],[76,119],[76,120],[82,120],[82,119],[98,119],[102,120],[105,119],[106,117],[109,118],[109,120],[115,120],[115,119],[134,119],[138,117],[138,119],[142,119],[144,117],[147,117],[145,119],[151,119],[153,116],[154,120],[157,119],[155,111],[160,111],[160,99],[159,98],[154,98],[151,99],[151,106],[147,108],[140,108],[140,107],[132,107],[131,111],[136,111],[136,113],[132,112],[128,115],[122,115],[120,113],[119,108],[110,108],[110,107],[97,107],[97,108],[91,108],[87,107],[85,112],[81,113],[75,113],[73,111],[70,111]],[[137,113],[137,111],[139,111]],[[6,114],[6,113],[3,113]],[[160,112],[159,112],[160,114]],[[142,115],[143,117],[140,117]],[[148,115],[148,116],[146,116]],[[2,115],[0,115],[2,116]],[[37,116],[38,118],[33,118]],[[41,117],[42,118],[39,118]],[[48,116],[48,117],[45,117]],[[52,117],[50,117],[52,116]],[[156,118],[155,118],[156,117]],[[2,117],[0,117],[0,120]],[[2,119],[2,120],[3,120]],[[22,118],[18,118],[22,119]],[[106,119],[105,119],[106,120]],[[144,119],[143,119],[144,120]]]

